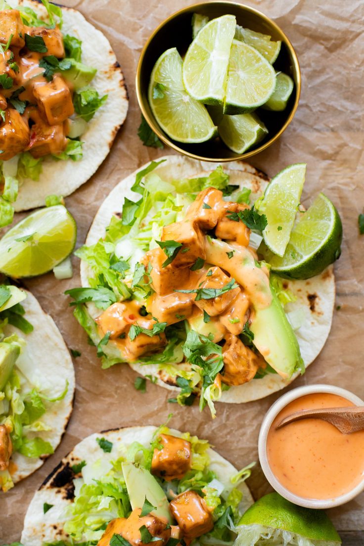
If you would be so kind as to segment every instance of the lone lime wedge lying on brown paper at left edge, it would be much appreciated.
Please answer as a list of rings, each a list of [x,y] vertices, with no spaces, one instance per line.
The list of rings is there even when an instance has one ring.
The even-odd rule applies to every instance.
[[[10,277],[34,277],[69,256],[76,222],[63,205],[40,209],[10,229],[0,241],[0,271]]]

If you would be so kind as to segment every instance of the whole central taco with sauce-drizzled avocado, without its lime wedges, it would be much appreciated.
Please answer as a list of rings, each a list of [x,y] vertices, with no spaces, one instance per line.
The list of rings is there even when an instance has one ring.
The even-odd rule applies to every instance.
[[[215,400],[267,396],[312,363],[331,327],[333,269],[289,280],[258,261],[261,236],[235,220],[258,214],[267,185],[244,163],[169,156],[112,190],[76,252],[83,288],[68,292],[103,367],[127,362],[214,414]]]

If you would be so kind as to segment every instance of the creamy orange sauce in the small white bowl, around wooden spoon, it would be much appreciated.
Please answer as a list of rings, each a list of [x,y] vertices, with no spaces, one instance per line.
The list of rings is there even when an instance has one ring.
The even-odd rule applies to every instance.
[[[273,474],[295,495],[324,500],[352,490],[364,475],[364,431],[342,434],[322,419],[302,419],[276,430],[284,417],[300,410],[354,406],[329,393],[290,402],[273,421],[267,458]]]

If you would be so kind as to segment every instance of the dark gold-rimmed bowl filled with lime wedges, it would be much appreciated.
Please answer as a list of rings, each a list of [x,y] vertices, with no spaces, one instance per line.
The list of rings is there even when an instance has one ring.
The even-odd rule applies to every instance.
[[[202,161],[247,158],[288,127],[300,90],[295,50],[275,22],[243,4],[191,5],[160,23],[141,52],[139,134]]]

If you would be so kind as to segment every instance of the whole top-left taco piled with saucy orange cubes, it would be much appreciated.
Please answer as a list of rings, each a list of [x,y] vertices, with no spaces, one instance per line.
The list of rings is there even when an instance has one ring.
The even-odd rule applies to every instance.
[[[128,109],[104,34],[75,9],[43,4],[0,2],[2,225],[11,222],[11,202],[16,211],[32,209],[86,182]]]

